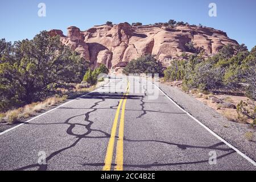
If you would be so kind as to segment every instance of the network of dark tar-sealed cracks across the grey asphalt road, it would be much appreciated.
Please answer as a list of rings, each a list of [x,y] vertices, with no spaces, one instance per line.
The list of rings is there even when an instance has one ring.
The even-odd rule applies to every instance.
[[[145,96],[146,96],[146,90],[145,90]],[[147,113],[147,111],[152,111],[152,112],[159,112],[161,113],[161,111],[153,111],[153,110],[145,110],[144,109],[144,98],[145,96],[140,96],[141,97],[141,107],[142,107],[142,111],[143,113],[140,114],[137,118],[141,118],[143,117],[143,115],[145,115]],[[139,96],[137,96],[139,97]],[[109,106],[108,108],[95,108],[97,105],[99,105],[101,102],[104,102],[106,100],[106,98],[108,97],[94,97],[94,99],[100,99],[101,101],[97,101],[94,102],[94,104],[89,107],[89,108],[81,108],[81,109],[92,109],[88,112],[86,112],[85,114],[80,114],[80,115],[75,115],[73,117],[68,118],[67,120],[65,120],[64,123],[26,123],[27,125],[69,125],[68,129],[67,129],[67,134],[68,135],[72,135],[76,138],[75,142],[73,142],[71,145],[69,145],[68,147],[64,147],[61,148],[60,150],[57,150],[55,152],[52,152],[49,156],[47,156],[46,158],[46,162],[49,162],[53,157],[55,157],[56,155],[61,154],[61,152],[68,150],[72,147],[75,147],[77,143],[80,142],[81,139],[84,138],[98,138],[98,139],[103,139],[103,138],[110,138],[110,134],[106,133],[105,131],[102,130],[98,130],[98,129],[92,129],[92,125],[93,125],[93,121],[90,119],[90,114],[94,113],[96,110],[100,110],[100,109],[116,109],[117,106],[119,105],[119,102],[117,105],[114,106]],[[127,97],[129,99],[129,96]],[[133,99],[133,97],[130,97],[130,99]],[[77,108],[71,108],[71,107],[60,107],[60,109],[77,109]],[[167,113],[167,112],[166,112]],[[171,114],[186,114],[186,113],[171,113]],[[82,115],[85,115],[85,123],[70,123],[71,119],[76,118],[76,117],[81,117]],[[76,134],[73,133],[73,129],[76,126],[84,126],[86,131],[84,134]],[[98,132],[103,134],[103,136],[101,137],[90,137],[88,136],[90,133],[92,133],[93,131]],[[172,143],[172,142],[165,142],[165,141],[161,141],[161,140],[133,140],[133,139],[127,139],[124,138],[124,141],[126,142],[153,142],[153,143],[162,143],[162,144],[168,144],[170,146],[176,146],[178,147],[180,150],[187,150],[188,148],[199,148],[199,149],[203,149],[203,150],[216,150],[216,151],[222,151],[222,152],[228,152],[226,154],[220,155],[218,156],[218,159],[224,158],[225,156],[231,155],[233,154],[235,151],[232,148],[225,148],[225,147],[220,147],[222,145],[225,145],[223,142],[220,143],[216,143],[212,146],[192,146],[192,145],[187,145],[187,144],[180,144],[180,143]],[[208,160],[198,160],[198,161],[191,161],[191,162],[179,162],[179,163],[158,163],[158,162],[154,162],[151,164],[123,164],[124,167],[139,167],[139,168],[151,168],[151,167],[160,167],[160,166],[175,166],[175,165],[185,165],[185,164],[197,164],[197,163],[207,163]],[[112,164],[113,166],[115,164]],[[82,164],[82,166],[104,166],[104,163],[84,163]],[[31,164],[25,167],[21,167],[18,168],[16,170],[24,170],[24,169],[30,169],[30,168],[38,168],[38,170],[40,171],[44,171],[47,170],[48,168],[48,164]]]

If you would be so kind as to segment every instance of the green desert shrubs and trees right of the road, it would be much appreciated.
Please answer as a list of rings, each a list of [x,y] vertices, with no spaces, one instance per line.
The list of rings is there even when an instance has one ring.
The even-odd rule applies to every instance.
[[[193,49],[193,43],[188,47]],[[196,89],[201,93],[247,96],[250,100],[237,104],[237,119],[242,121],[246,117],[256,124],[256,47],[249,52],[244,44],[228,45],[213,57],[205,56],[204,51],[177,57],[164,71],[164,80],[182,81],[186,92]]]

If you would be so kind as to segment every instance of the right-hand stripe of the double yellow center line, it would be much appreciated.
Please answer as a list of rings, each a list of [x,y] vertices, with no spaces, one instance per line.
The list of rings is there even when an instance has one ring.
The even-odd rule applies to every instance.
[[[127,95],[129,94],[130,84],[128,83],[127,93],[125,94],[125,100],[123,101],[122,113],[119,123],[119,133],[117,140],[117,152],[115,154],[115,171],[123,171],[123,133],[125,128],[125,106],[127,101]]]

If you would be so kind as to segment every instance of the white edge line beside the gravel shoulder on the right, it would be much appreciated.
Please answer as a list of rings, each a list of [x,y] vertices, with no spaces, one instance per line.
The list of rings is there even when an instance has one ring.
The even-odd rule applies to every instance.
[[[248,162],[250,162],[251,164],[253,164],[254,166],[256,166],[256,162],[249,158],[247,155],[243,154],[243,152],[241,152],[240,150],[238,150],[236,147],[232,146],[232,144],[226,142],[226,140],[224,140],[223,138],[221,138],[219,135],[217,135],[216,133],[214,133],[212,130],[210,130],[207,126],[205,126],[203,123],[201,123],[199,120],[197,120],[195,117],[193,117],[191,114],[189,114],[187,111],[185,111],[184,109],[182,109],[179,105],[177,105],[177,103],[172,100],[171,97],[167,96],[166,93],[163,92],[162,89],[160,89],[158,86],[156,86],[155,84],[153,84],[152,82],[150,82],[152,85],[154,85],[156,88],[158,88],[163,94],[164,96],[166,96],[172,103],[174,103],[177,107],[179,107],[179,109],[181,109],[182,111],[184,111],[185,113],[187,113],[189,115],[189,117],[191,117],[193,120],[195,120],[197,123],[199,123],[199,125],[203,126],[204,129],[206,129],[207,131],[209,131],[209,133],[211,133],[212,135],[214,135],[214,137],[216,137],[217,139],[221,140],[221,142],[225,143],[227,146],[229,146],[230,148],[232,148],[234,151],[236,151],[239,155],[241,155],[243,158],[245,158]]]

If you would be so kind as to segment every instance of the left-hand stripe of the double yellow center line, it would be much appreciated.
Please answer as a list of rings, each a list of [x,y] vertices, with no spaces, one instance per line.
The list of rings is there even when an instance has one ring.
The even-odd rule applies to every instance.
[[[128,89],[128,86],[127,86],[127,89]],[[123,102],[123,98],[120,100],[120,102],[118,104],[118,107],[117,107],[117,112],[115,113],[114,123],[113,123],[113,126],[112,126],[112,131],[111,131],[111,135],[110,135],[110,139],[109,139],[109,144],[108,144],[108,148],[107,148],[107,151],[106,151],[105,165],[102,169],[103,171],[110,171],[110,169],[111,169],[114,143],[115,143],[115,133],[117,131],[118,117],[119,117],[119,112],[120,112],[120,109],[121,109],[122,102]]]

